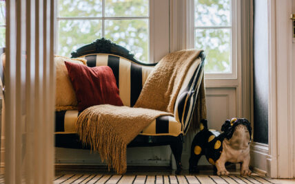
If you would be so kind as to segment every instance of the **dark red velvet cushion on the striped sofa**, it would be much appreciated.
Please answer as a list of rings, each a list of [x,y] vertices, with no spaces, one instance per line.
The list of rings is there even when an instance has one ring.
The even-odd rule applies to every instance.
[[[99,104],[123,106],[116,87],[116,78],[110,67],[87,67],[66,61],[65,66],[76,92],[78,111]]]

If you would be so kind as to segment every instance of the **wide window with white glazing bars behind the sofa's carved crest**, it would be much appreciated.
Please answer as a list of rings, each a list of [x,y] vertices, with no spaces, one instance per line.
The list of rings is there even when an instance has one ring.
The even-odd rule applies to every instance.
[[[149,0],[58,0],[58,45],[61,56],[97,38],[109,38],[150,60]]]

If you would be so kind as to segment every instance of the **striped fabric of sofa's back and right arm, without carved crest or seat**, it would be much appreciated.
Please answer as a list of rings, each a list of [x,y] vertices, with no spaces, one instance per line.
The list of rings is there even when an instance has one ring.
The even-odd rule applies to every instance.
[[[88,54],[80,58],[87,60],[88,67],[109,66],[112,68],[125,106],[134,106],[143,84],[153,69],[114,54]],[[199,59],[195,60],[190,67],[174,104],[174,117],[183,124],[184,133],[190,126],[199,84],[203,77],[204,62],[202,61],[201,65],[199,63]]]

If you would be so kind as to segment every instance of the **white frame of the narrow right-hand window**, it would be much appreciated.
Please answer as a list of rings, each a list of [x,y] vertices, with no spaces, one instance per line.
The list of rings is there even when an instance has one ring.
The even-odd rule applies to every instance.
[[[227,85],[229,84],[236,84],[237,85],[237,81],[233,81],[234,79],[238,79],[238,67],[240,65],[239,59],[240,58],[240,51],[239,48],[241,48],[241,45],[239,45],[241,43],[240,38],[241,35],[239,34],[239,30],[241,30],[241,23],[238,23],[239,21],[237,20],[241,20],[241,0],[232,0],[231,1],[231,31],[232,31],[232,37],[231,37],[231,60],[232,62],[230,63],[230,67],[231,67],[231,72],[230,73],[221,73],[221,72],[216,72],[216,73],[205,73],[205,78],[206,79],[212,79],[212,80],[216,80],[217,83],[221,82],[221,79],[229,79],[230,81],[228,82],[221,82],[221,83],[227,83]],[[194,1],[193,1],[194,3]],[[196,5],[194,4],[194,11],[195,11]],[[194,16],[194,11],[191,12],[191,16],[193,17],[193,20],[195,19]],[[196,25],[194,25],[193,22],[193,27],[194,27],[194,31],[193,31],[193,39],[195,39],[195,30],[198,29],[198,27],[196,27]],[[226,26],[227,27],[227,26]],[[204,28],[204,27],[201,27]],[[222,26],[216,26],[216,27],[206,27],[206,29],[214,29],[214,28],[223,28]],[[228,27],[227,27],[228,28]],[[195,43],[195,40],[194,40]],[[213,81],[210,80],[210,82],[208,81],[208,83],[212,83]],[[213,82],[213,83],[216,83]],[[218,86],[218,84],[212,84],[214,86]]]

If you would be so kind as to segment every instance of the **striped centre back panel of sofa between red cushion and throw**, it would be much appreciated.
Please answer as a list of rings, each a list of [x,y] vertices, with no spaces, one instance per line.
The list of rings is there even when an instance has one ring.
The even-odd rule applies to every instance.
[[[88,67],[109,66],[112,69],[125,106],[134,106],[153,69],[114,54],[88,54],[79,58],[85,58]]]

